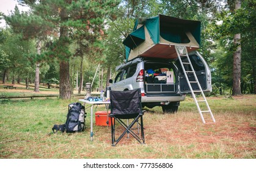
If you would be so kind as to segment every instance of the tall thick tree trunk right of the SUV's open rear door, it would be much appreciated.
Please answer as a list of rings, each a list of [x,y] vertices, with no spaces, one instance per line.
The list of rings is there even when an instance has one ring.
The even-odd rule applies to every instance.
[[[241,0],[235,1],[235,10],[241,8]],[[233,54],[233,92],[232,95],[241,95],[241,34],[235,34],[234,44],[236,51]]]

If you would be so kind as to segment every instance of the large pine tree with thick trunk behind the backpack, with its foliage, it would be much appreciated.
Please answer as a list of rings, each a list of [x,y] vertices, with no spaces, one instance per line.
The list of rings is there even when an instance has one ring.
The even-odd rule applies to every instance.
[[[56,57],[59,60],[60,98],[71,98],[69,59],[72,54],[69,51],[69,46],[75,40],[87,40],[90,43],[100,40],[104,36],[104,18],[114,12],[119,0],[18,1],[31,7],[31,13],[27,18],[34,18],[37,23],[32,25],[29,31],[35,33],[35,37],[38,36],[38,33],[53,37],[53,41],[49,43],[46,57],[48,59]],[[22,23],[24,22],[26,23],[23,20]],[[21,26],[22,24],[17,27]]]

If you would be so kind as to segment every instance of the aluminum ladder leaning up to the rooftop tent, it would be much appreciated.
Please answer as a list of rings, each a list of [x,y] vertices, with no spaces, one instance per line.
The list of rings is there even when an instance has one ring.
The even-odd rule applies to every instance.
[[[176,50],[176,53],[178,55],[178,59],[180,60],[180,65],[181,65],[182,70],[184,72],[184,75],[186,77],[186,81],[188,82],[189,89],[190,89],[191,94],[192,94],[192,96],[194,98],[194,101],[196,103],[196,106],[197,106],[197,109],[199,111],[199,114],[200,114],[200,117],[202,119],[202,122],[206,123],[205,122],[205,118],[203,117],[203,115],[210,114],[212,122],[207,122],[207,123],[215,123],[215,119],[213,117],[213,113],[211,112],[210,106],[209,106],[209,104],[207,102],[207,99],[205,98],[205,95],[203,93],[202,87],[201,87],[201,85],[200,85],[200,83],[199,83],[199,81],[197,79],[196,72],[194,71],[194,68],[193,68],[193,66],[191,64],[191,60],[189,59],[188,51],[187,51],[186,46],[178,46],[178,45],[176,45],[175,46],[175,50]],[[183,60],[181,58],[186,59],[187,61],[183,62]],[[191,70],[185,70],[184,65],[190,65]],[[189,68],[189,67],[186,67],[186,68]],[[188,73],[193,73],[195,80],[193,80],[193,81],[189,80]],[[199,90],[193,90],[191,84],[197,84],[198,87],[199,87]],[[199,95],[202,95],[203,100],[197,100],[197,97],[196,97],[195,93],[199,94]]]

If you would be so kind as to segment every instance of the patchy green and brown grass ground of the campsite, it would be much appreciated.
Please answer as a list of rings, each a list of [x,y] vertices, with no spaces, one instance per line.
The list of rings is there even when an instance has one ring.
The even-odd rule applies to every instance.
[[[108,126],[94,126],[90,141],[90,108],[84,132],[51,133],[54,124],[65,122],[68,104],[76,101],[0,101],[0,158],[256,158],[256,95],[208,98],[215,124],[202,123],[189,96],[177,114],[163,114],[160,107],[147,109],[145,145],[124,138],[116,147],[111,147]]]

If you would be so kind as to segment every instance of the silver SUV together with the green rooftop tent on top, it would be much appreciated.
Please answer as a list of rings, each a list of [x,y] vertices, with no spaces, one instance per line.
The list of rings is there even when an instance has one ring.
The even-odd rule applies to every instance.
[[[156,33],[155,35],[153,33]],[[211,91],[211,73],[196,51],[200,42],[200,22],[159,15],[137,20],[134,31],[123,41],[126,63],[119,65],[111,90],[141,89],[142,106],[161,106],[163,112],[177,112],[180,101],[190,92],[175,46],[185,46],[204,92]],[[186,63],[188,59],[181,59]],[[189,65],[183,65],[191,70]],[[194,73],[187,73],[195,79]],[[197,84],[191,84],[199,90]]]

